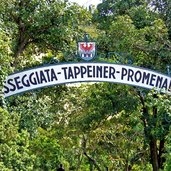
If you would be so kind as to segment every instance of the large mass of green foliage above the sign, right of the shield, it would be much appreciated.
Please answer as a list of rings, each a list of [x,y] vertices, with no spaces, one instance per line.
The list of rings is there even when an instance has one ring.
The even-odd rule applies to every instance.
[[[158,12],[159,6],[163,8],[163,11],[168,11],[170,1],[129,1],[129,3],[124,1],[123,6],[124,3],[129,4],[125,5],[127,9],[124,10],[125,12],[117,13],[117,9],[121,9],[117,8],[117,4],[120,2],[106,0],[97,7],[94,19],[98,27],[101,28],[102,34],[100,34],[99,41],[103,44],[99,49],[107,54],[110,51],[115,51],[124,55],[125,51],[129,53],[129,50],[133,48],[133,52],[138,52],[138,56],[142,56],[143,59],[153,58],[152,61],[144,60],[149,61],[149,65],[143,64],[143,67],[151,68],[153,66],[156,68],[154,65],[170,65],[170,22],[164,19],[164,16],[170,17],[170,15],[168,12],[159,15]],[[103,24],[103,22],[105,23]],[[130,49],[127,50],[127,48]],[[127,59],[131,58],[129,55],[126,56]],[[136,56],[136,54],[132,55]],[[138,59],[138,57],[136,58]],[[160,64],[157,64],[158,62]],[[139,65],[141,66],[141,64]],[[162,68],[164,66],[156,69]]]

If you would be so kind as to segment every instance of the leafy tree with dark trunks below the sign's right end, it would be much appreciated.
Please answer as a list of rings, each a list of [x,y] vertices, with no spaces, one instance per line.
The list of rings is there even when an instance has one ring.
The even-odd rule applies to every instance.
[[[147,97],[140,96],[142,103],[142,120],[144,134],[150,147],[153,170],[164,168],[166,158],[166,139],[169,135],[170,96],[149,93]]]

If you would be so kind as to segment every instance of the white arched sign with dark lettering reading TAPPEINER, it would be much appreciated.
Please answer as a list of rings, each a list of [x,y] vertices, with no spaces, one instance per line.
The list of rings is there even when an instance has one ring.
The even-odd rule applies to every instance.
[[[171,77],[151,70],[112,63],[63,63],[33,68],[9,75],[4,95],[74,82],[111,82],[156,88],[171,93]]]

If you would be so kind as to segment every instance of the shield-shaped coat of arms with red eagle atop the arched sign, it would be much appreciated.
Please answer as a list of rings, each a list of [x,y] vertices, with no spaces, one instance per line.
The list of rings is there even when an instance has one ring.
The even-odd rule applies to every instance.
[[[96,44],[92,41],[89,42],[86,36],[84,39],[85,41],[78,42],[78,54],[80,58],[89,61],[96,55]]]

